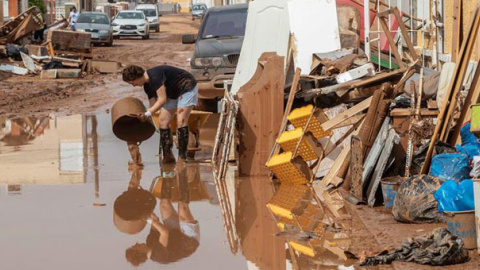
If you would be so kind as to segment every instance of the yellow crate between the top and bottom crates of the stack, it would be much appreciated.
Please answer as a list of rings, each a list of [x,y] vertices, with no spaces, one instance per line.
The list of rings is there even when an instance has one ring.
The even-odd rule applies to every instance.
[[[297,143],[298,143],[298,140],[300,140],[302,133],[303,133],[302,128],[296,128],[294,130],[284,131],[278,137],[277,143],[280,145],[283,151],[290,151],[293,153],[297,148]],[[319,156],[315,152],[314,147],[315,146],[311,145],[307,141],[307,139],[304,137],[302,139],[302,143],[300,144],[300,147],[298,148],[298,155],[301,156],[305,161],[318,159]]]

